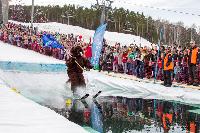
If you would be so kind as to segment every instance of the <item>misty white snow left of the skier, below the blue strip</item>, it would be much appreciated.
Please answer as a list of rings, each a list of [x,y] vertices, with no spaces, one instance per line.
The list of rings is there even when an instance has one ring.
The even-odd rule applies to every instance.
[[[72,96],[66,73],[35,73],[0,71],[0,77],[11,87],[17,88],[21,95],[56,108],[64,108],[67,97]]]

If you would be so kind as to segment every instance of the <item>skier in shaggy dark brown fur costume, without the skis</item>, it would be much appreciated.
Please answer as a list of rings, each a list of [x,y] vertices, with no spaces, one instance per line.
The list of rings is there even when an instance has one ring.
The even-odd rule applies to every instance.
[[[91,69],[92,67],[90,62],[83,57],[83,50],[80,46],[71,49],[71,57],[66,60],[66,65],[73,93],[77,87],[86,87],[83,71],[84,68]]]

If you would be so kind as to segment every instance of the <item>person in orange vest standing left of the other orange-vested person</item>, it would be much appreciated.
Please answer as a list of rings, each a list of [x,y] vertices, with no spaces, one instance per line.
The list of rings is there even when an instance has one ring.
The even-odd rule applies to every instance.
[[[173,72],[174,66],[172,62],[172,54],[170,48],[167,49],[167,52],[164,56],[164,86],[171,87],[171,73]]]

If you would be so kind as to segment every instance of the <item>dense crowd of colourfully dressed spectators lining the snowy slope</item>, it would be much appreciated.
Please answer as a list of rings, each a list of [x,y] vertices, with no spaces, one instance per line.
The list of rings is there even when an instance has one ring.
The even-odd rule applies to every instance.
[[[42,41],[43,34],[53,35],[64,48],[44,47]],[[57,32],[38,31],[37,28],[8,23],[0,28],[0,40],[17,47],[53,56],[60,60],[69,58],[71,48],[80,45],[84,50],[84,56],[89,60],[92,57],[91,41],[89,43],[83,42],[81,35],[75,36],[73,34],[65,35]],[[141,79],[155,78],[157,80],[164,80],[164,60],[166,55],[170,54],[169,57],[173,63],[173,68],[172,70],[170,69],[170,80],[184,84],[193,84],[194,82],[199,84],[200,52],[194,41],[191,44],[197,48],[195,64],[191,64],[193,47],[190,46],[182,47],[176,45],[158,48],[157,45],[139,47],[135,44],[121,46],[120,43],[110,46],[104,40],[99,71],[124,73]],[[169,60],[169,57],[167,57],[167,60]],[[195,65],[196,69],[190,71],[191,65]],[[192,77],[190,76],[191,73],[193,74]]]

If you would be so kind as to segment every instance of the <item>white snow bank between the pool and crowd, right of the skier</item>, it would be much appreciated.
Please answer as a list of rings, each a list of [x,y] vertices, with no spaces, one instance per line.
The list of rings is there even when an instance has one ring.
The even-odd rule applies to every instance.
[[[129,79],[110,77],[98,72],[87,74],[88,92],[101,96],[123,96],[128,98],[174,100],[189,104],[200,104],[200,91],[191,88],[164,87],[160,84],[144,83]]]

